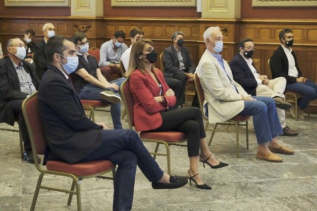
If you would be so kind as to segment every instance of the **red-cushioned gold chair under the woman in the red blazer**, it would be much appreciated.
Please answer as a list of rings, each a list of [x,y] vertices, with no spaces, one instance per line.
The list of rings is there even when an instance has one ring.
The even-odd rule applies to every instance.
[[[133,106],[134,101],[132,97],[132,93],[130,91],[130,82],[129,80],[125,80],[120,87],[121,91],[121,99],[124,103],[127,119],[129,123],[129,128],[132,129],[134,127],[133,120]],[[154,155],[153,158],[156,159],[157,155],[166,156],[167,158],[167,173],[171,174],[170,168],[170,145],[174,146],[186,146],[185,144],[180,144],[182,142],[187,141],[187,137],[185,133],[178,131],[165,131],[165,132],[146,132],[141,131],[140,138],[145,142],[156,143],[156,148],[154,152],[150,152],[150,154]],[[166,148],[166,153],[158,153],[159,145],[162,144]]]

